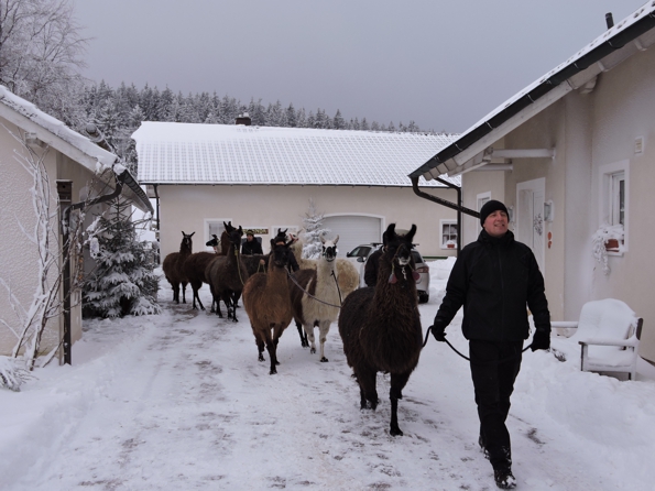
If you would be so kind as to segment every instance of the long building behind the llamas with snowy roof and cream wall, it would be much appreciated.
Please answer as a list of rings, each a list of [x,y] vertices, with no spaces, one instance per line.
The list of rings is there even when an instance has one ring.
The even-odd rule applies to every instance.
[[[422,206],[407,178],[455,135],[143,122],[132,138],[139,181],[157,201],[162,258],[179,250],[182,231],[196,232],[194,251],[205,250],[223,221],[254,230],[268,252],[277,229],[303,227],[310,200],[339,236],[340,257],[380,242],[392,222],[416,223],[428,258],[455,253],[456,212]],[[457,198],[439,182],[419,186]]]

